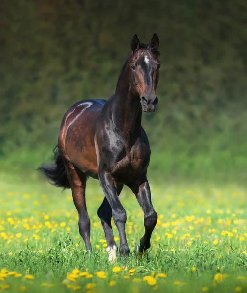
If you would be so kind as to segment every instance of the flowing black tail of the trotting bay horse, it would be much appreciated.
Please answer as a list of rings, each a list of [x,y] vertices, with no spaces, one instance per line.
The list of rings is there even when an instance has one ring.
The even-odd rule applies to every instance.
[[[58,146],[53,149],[54,163],[42,164],[38,167],[38,170],[43,172],[49,183],[58,187],[70,188],[69,181],[67,179],[64,162],[59,153]]]

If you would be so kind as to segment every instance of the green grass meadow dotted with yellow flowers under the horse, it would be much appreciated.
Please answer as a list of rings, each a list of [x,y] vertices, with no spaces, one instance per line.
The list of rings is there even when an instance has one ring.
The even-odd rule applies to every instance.
[[[70,190],[0,178],[0,291],[247,292],[245,186],[151,182],[159,218],[148,258],[131,253],[112,264],[96,213],[103,199],[97,181],[88,181],[86,194],[89,256]],[[121,201],[133,251],[143,235],[143,214],[127,188]]]

